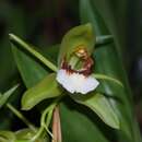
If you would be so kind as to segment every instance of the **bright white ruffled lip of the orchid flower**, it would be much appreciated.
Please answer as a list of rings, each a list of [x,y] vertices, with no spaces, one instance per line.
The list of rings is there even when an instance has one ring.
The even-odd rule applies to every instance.
[[[99,82],[93,76],[84,76],[79,73],[67,73],[66,70],[61,69],[57,73],[57,81],[70,93],[87,94],[94,91]]]

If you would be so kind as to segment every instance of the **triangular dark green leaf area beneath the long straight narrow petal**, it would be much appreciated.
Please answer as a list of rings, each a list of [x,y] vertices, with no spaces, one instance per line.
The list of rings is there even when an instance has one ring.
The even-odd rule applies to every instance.
[[[39,80],[44,79],[44,76],[48,74],[47,70],[45,70],[38,61],[16,48],[15,45],[12,45],[12,51],[26,87],[35,85]]]

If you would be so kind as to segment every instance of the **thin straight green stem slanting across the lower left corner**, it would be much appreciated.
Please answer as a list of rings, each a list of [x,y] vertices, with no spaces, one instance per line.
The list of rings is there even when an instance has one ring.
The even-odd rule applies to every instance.
[[[7,107],[17,116],[31,130],[36,131],[36,128],[17,110],[15,109],[10,103],[7,104]]]

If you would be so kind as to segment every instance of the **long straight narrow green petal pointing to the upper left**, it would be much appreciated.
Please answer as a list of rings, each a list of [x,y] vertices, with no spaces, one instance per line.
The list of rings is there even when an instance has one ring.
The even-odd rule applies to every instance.
[[[20,44],[24,49],[26,49],[34,57],[36,57],[38,60],[40,60],[45,66],[47,66],[52,71],[57,72],[58,68],[52,62],[50,62],[49,60],[47,60],[42,54],[39,54],[35,49],[31,48],[25,42],[23,42],[22,39],[20,39],[17,36],[13,35],[13,34],[9,34],[9,36],[10,36],[10,39],[12,42],[16,42],[17,44]]]

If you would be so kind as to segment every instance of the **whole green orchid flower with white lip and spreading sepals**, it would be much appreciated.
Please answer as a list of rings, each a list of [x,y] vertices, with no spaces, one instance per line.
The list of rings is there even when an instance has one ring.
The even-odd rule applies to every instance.
[[[44,99],[60,98],[62,94],[69,94],[75,103],[82,104],[96,113],[105,123],[115,129],[119,129],[119,118],[111,107],[110,102],[105,95],[97,92],[96,88],[98,85],[102,85],[100,80],[113,82],[120,87],[123,86],[120,81],[111,76],[94,73],[95,61],[92,58],[92,54],[95,44],[98,45],[99,43],[96,39],[99,38],[96,38],[90,23],[73,27],[63,36],[58,55],[58,67],[15,35],[10,34],[10,39],[15,60],[17,58],[16,54],[19,54],[15,46],[20,45],[54,71],[54,73],[49,73],[39,83],[29,87],[24,93],[22,97],[22,109],[29,110]],[[106,39],[107,37],[105,36]],[[17,68],[22,72],[22,68],[20,66]],[[24,81],[25,76],[23,73],[21,74]],[[47,108],[47,110],[52,109],[56,105],[57,103],[52,103],[51,107]],[[45,114],[44,118],[42,118],[43,121],[45,120]],[[46,123],[43,121],[42,125]]]

